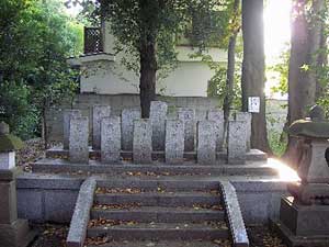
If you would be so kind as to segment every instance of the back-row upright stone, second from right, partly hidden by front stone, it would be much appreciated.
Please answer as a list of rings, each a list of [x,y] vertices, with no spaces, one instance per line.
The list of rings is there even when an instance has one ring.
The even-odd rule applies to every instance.
[[[207,119],[215,122],[216,151],[223,149],[224,144],[224,112],[222,110],[209,110]]]

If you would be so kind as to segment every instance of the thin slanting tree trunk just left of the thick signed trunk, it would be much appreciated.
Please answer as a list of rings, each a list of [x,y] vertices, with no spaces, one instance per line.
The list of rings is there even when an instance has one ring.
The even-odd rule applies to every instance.
[[[238,19],[240,0],[235,0],[234,2],[234,23]],[[224,136],[227,130],[228,121],[229,121],[229,113],[232,103],[234,97],[234,85],[235,85],[235,66],[236,66],[236,43],[237,43],[237,35],[239,33],[239,27],[232,30],[232,34],[229,37],[228,43],[228,56],[227,56],[227,79],[226,79],[226,94],[224,98],[223,111],[224,111]]]

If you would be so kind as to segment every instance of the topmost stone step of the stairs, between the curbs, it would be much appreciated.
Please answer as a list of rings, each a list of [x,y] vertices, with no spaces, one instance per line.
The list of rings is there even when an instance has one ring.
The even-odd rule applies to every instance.
[[[145,192],[166,191],[166,192],[211,192],[219,191],[219,181],[214,178],[194,178],[194,177],[166,177],[166,178],[131,178],[131,179],[100,179],[98,180],[100,188],[131,188],[138,189]]]

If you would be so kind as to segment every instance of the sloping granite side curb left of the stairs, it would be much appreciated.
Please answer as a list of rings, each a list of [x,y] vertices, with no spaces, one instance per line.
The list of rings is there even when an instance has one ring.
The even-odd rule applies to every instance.
[[[66,240],[68,247],[82,247],[84,244],[95,187],[97,181],[91,177],[88,178],[80,188]]]

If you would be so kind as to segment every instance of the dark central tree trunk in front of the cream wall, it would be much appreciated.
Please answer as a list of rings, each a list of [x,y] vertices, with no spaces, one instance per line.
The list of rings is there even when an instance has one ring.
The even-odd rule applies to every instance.
[[[150,102],[156,99],[157,81],[157,57],[156,42],[152,38],[145,41],[140,47],[140,78],[139,78],[139,97],[141,117],[148,119]]]

